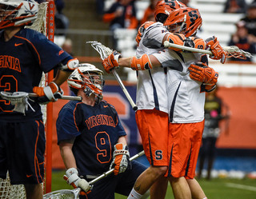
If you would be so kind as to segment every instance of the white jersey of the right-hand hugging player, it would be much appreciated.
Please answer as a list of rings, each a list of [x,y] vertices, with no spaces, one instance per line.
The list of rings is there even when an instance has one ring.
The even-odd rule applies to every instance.
[[[194,123],[204,119],[205,93],[200,93],[202,82],[190,78],[188,67],[199,62],[202,54],[177,53],[165,50],[154,54],[162,67],[167,68],[166,93],[170,122]]]

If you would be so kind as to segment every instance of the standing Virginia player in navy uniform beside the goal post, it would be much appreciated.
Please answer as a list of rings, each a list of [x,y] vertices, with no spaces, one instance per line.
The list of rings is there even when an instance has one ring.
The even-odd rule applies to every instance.
[[[34,0],[0,0],[0,91],[38,94],[25,113],[13,111],[10,101],[0,98],[0,177],[7,170],[12,185],[24,184],[26,198],[42,198],[45,131],[39,103],[62,96],[59,86],[78,66],[70,54],[43,34],[25,29],[38,16]],[[38,87],[42,72],[59,67],[53,82]]]

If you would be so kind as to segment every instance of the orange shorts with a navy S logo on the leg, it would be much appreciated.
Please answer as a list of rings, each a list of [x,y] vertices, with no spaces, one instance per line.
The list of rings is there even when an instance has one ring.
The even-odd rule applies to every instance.
[[[150,165],[165,166],[168,161],[168,113],[156,109],[136,111],[138,131]]]

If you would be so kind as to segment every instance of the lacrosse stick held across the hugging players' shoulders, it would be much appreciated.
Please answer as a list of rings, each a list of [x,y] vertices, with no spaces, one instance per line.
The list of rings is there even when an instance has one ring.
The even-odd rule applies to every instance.
[[[188,46],[180,46],[178,44],[170,43],[168,41],[164,42],[164,46],[166,48],[174,47],[174,48],[178,48],[178,49],[181,49],[181,50],[187,50],[187,51],[194,52],[194,53],[210,54],[210,55],[213,54],[210,50],[202,50],[202,49],[191,48],[191,47],[188,47]],[[225,46],[225,47],[223,47],[223,50],[225,51],[226,58],[246,59],[246,58],[252,58],[253,57],[253,55],[251,55],[250,53],[239,49],[238,46]]]

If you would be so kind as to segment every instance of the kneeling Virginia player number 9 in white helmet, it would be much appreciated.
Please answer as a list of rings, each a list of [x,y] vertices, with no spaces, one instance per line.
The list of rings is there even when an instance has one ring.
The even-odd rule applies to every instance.
[[[81,187],[89,199],[114,199],[114,193],[128,196],[146,169],[138,161],[129,161],[126,132],[118,113],[102,100],[102,74],[88,63],[74,70],[67,82],[75,95],[82,96],[82,102],[64,105],[56,122],[66,181]],[[112,168],[114,173],[95,182],[93,189],[90,187],[89,181]]]

